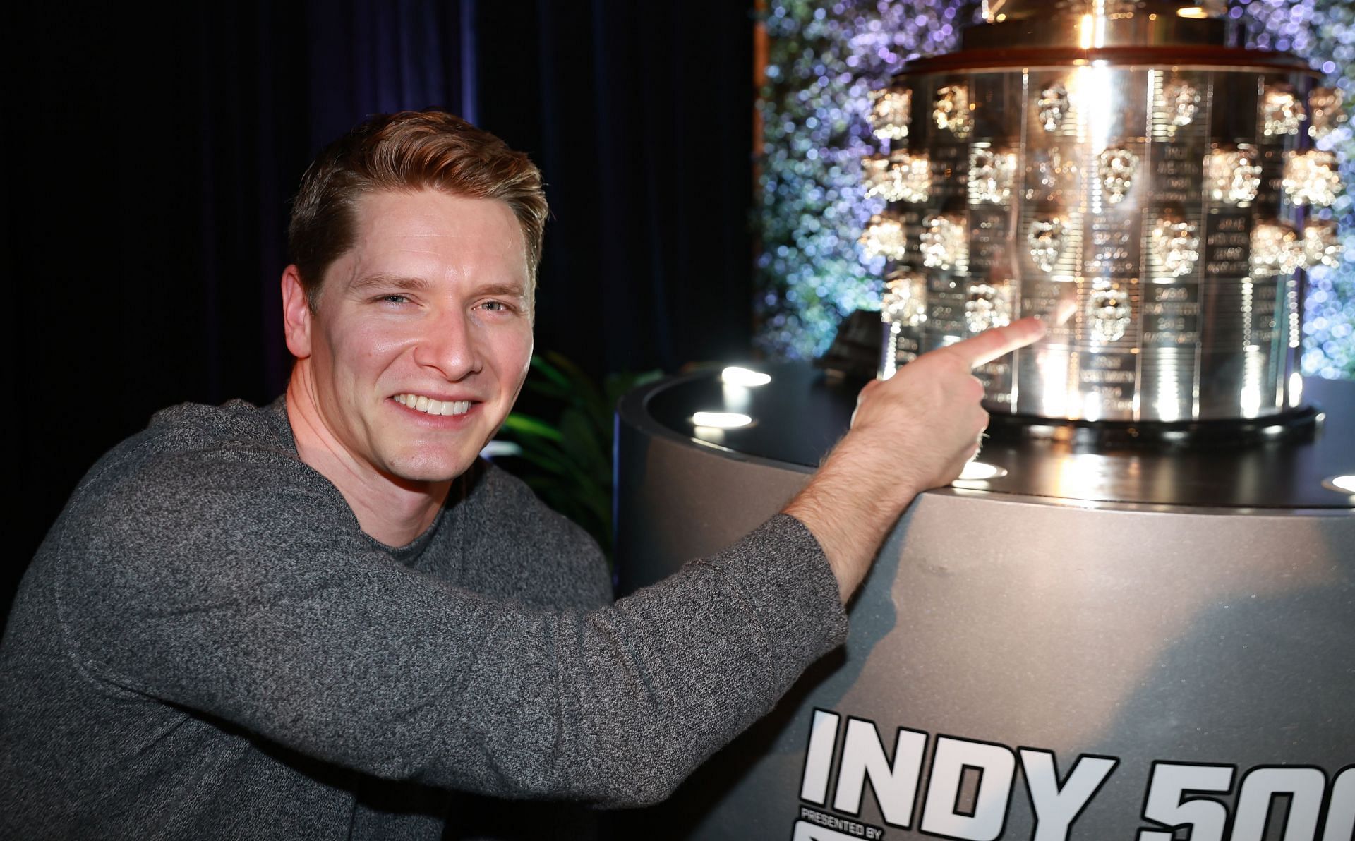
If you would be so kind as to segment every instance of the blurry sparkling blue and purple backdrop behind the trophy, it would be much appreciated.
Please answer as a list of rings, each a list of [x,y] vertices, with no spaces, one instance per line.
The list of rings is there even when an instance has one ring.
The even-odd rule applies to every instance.
[[[882,259],[862,256],[856,238],[882,200],[867,198],[860,158],[878,144],[867,114],[871,89],[909,58],[958,46],[959,28],[978,19],[965,0],[770,0],[767,84],[759,110],[757,260],[759,347],[805,359],[827,349],[855,309],[877,309]],[[1247,27],[1248,46],[1290,50],[1355,103],[1355,7],[1346,0],[1233,0],[1229,15]],[[1317,142],[1335,150],[1346,184],[1355,181],[1355,139],[1346,123]],[[1335,268],[1309,272],[1304,372],[1355,376],[1355,203],[1350,191],[1329,209],[1346,253]]]

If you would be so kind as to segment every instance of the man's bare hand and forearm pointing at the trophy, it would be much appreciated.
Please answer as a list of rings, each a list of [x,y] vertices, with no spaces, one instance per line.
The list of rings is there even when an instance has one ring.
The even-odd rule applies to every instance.
[[[1043,335],[1043,324],[1023,318],[923,353],[860,390],[851,431],[785,508],[824,547],[843,601],[913,497],[953,482],[978,451],[988,413],[970,371]]]

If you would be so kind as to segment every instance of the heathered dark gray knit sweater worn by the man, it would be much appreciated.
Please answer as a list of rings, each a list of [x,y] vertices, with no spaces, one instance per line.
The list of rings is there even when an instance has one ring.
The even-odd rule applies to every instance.
[[[0,837],[449,836],[457,792],[659,800],[847,622],[778,516],[610,604],[593,542],[478,465],[413,543],[297,458],[282,400],[100,459],[0,645]]]

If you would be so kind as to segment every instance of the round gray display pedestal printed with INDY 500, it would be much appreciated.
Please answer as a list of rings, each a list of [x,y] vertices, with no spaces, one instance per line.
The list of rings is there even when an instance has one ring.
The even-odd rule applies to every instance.
[[[709,372],[622,401],[623,592],[776,513],[846,431],[851,389],[808,366],[767,370],[756,389]],[[1232,837],[1279,838],[1287,794],[1293,819],[1316,810],[1325,834],[1297,823],[1285,838],[1344,841],[1355,496],[1322,481],[1355,473],[1355,383],[1309,379],[1306,401],[1325,413],[1310,436],[1247,448],[989,441],[981,460],[1007,474],[913,502],[844,649],[669,804],[621,823],[646,837],[1030,838],[1064,791],[1064,806],[1084,800],[1068,837],[1133,840],[1194,796],[1234,829],[1264,823],[1274,791],[1271,829]],[[698,410],[755,424],[696,431]]]

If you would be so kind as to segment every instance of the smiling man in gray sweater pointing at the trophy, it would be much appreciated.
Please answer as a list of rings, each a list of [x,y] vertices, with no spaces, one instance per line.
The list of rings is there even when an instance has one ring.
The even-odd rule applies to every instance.
[[[477,460],[531,355],[520,153],[378,116],[306,172],[287,393],[179,406],[81,481],[0,649],[4,837],[440,837],[447,791],[640,804],[841,642],[843,603],[986,416],[1018,322],[862,391],[756,532],[610,604],[596,547]]]

